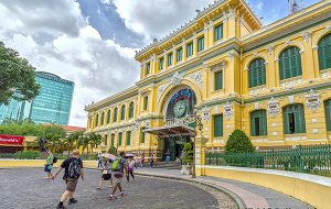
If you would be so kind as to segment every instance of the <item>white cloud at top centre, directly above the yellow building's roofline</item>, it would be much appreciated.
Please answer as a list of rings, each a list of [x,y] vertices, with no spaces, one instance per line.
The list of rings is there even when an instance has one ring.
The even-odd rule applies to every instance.
[[[163,37],[196,15],[214,0],[114,0],[127,28],[152,37]]]

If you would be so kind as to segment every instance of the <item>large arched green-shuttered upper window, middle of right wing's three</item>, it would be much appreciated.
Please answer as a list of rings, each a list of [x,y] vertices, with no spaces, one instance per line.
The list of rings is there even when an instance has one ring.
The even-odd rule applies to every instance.
[[[302,75],[300,48],[291,46],[281,52],[279,56],[280,80]]]

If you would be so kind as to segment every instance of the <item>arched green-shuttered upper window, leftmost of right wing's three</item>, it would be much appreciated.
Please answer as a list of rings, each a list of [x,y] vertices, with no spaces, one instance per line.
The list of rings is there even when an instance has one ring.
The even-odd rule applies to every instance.
[[[249,88],[266,84],[265,59],[256,58],[249,64]]]

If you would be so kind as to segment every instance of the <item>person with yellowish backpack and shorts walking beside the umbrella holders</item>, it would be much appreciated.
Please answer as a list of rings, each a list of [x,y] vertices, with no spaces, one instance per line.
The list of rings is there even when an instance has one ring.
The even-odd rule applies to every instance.
[[[114,160],[113,165],[111,165],[111,172],[114,174],[114,182],[113,182],[114,187],[109,195],[109,200],[116,199],[114,194],[116,193],[117,188],[119,189],[121,197],[124,197],[124,195],[125,195],[125,190],[121,187],[121,180],[122,180],[125,172],[126,172],[126,175],[128,175],[128,166],[127,166],[127,161],[125,158],[126,153],[120,152],[119,155],[120,155],[119,157],[116,157]]]

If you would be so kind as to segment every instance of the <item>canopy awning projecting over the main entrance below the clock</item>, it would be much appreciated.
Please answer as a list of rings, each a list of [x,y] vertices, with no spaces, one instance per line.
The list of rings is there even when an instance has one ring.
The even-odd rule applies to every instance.
[[[153,129],[147,129],[143,131],[145,133],[150,133],[152,135],[157,135],[158,138],[171,138],[171,136],[184,136],[195,135],[195,130],[188,125],[172,124],[166,127],[158,127]]]

